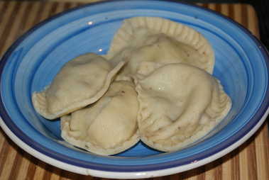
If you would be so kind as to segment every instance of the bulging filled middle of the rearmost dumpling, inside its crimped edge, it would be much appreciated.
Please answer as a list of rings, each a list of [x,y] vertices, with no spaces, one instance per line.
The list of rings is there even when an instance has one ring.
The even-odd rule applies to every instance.
[[[136,77],[136,74],[139,73],[138,65],[150,62],[156,64],[185,63],[209,70],[201,55],[190,45],[180,43],[163,34],[151,35],[149,38],[154,39],[153,44],[137,47],[126,55],[128,63],[120,72],[122,76]],[[116,56],[111,61],[114,62],[115,59],[123,60]]]

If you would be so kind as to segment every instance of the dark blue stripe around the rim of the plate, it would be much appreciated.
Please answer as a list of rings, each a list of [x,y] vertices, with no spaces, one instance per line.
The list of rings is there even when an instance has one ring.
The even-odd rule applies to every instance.
[[[171,1],[171,3],[172,2],[173,1]],[[104,2],[101,2],[101,3],[104,3]],[[95,4],[101,4],[101,3],[99,2],[99,3],[95,3]],[[109,4],[111,2],[105,2],[105,3]],[[77,8],[77,9],[83,9],[86,6],[94,6],[95,4],[85,5],[85,6]],[[177,3],[177,4],[179,4],[179,3]],[[185,4],[185,5],[192,6],[190,4]],[[204,11],[209,11],[211,13],[218,15],[218,16],[221,16],[222,18],[225,18],[227,21],[231,21],[231,22],[235,23],[235,21],[233,21],[229,18],[226,18],[225,16],[219,15],[219,13],[216,13],[214,11],[204,9],[202,7],[199,7],[199,6],[193,6],[193,7],[197,8],[197,9],[203,9]],[[31,33],[33,33],[34,30],[40,28],[40,26],[43,26],[43,24],[48,23],[59,16],[62,16],[64,14],[72,12],[72,11],[76,11],[77,9],[65,11],[63,13],[58,14],[57,16],[49,18],[46,21],[39,23],[37,26],[35,26],[31,30],[29,30],[26,34],[22,35],[21,38],[18,38],[18,40],[16,40],[16,42],[13,43],[13,45],[11,45],[11,47],[6,52],[6,54],[4,55],[4,57],[2,58],[2,60],[0,62],[1,72],[3,72],[6,61],[9,59],[9,56],[11,55],[13,50],[15,50],[16,47],[25,38],[28,37],[28,35],[31,35]],[[243,30],[243,32],[248,34],[253,39],[253,41],[256,43],[256,45],[258,47],[260,47],[260,50],[263,54],[263,57],[265,58],[266,67],[269,69],[269,57],[268,57],[268,52],[265,50],[265,47],[263,45],[261,45],[261,43],[257,40],[257,38],[255,38],[248,30],[243,28],[243,26],[239,25],[238,23],[235,23],[235,24],[238,26],[238,28]],[[2,76],[2,74],[1,74],[1,76]],[[0,80],[0,83],[1,83],[1,80]],[[2,96],[3,96],[3,94],[1,93],[1,100],[2,100]],[[89,169],[98,169],[98,170],[102,170],[102,171],[152,171],[152,170],[168,169],[168,168],[177,167],[177,166],[181,166],[181,165],[185,165],[185,164],[190,164],[194,160],[202,160],[202,159],[205,159],[207,157],[212,156],[212,154],[215,154],[217,152],[220,152],[221,150],[224,150],[226,147],[229,147],[230,145],[234,144],[234,142],[237,142],[238,140],[240,140],[241,137],[246,135],[260,121],[260,118],[263,117],[265,111],[268,108],[268,105],[269,105],[269,90],[267,89],[263,103],[261,104],[261,106],[258,109],[258,111],[256,112],[256,114],[253,116],[253,118],[250,120],[250,122],[248,124],[246,124],[246,126],[244,126],[238,133],[236,133],[236,135],[231,137],[229,140],[224,141],[224,143],[221,143],[221,145],[217,145],[217,146],[213,147],[211,150],[205,150],[203,152],[203,155],[195,154],[194,156],[188,157],[185,159],[180,159],[180,160],[175,160],[172,162],[166,162],[166,163],[160,163],[160,164],[143,165],[143,166],[141,166],[141,165],[139,165],[139,166],[114,166],[114,165],[108,165],[108,164],[95,164],[95,163],[83,162],[83,161],[80,161],[78,159],[70,158],[70,157],[67,157],[65,155],[59,154],[57,152],[53,152],[51,150],[48,150],[48,148],[40,145],[38,142],[32,142],[31,139],[26,134],[24,134],[14,123],[12,123],[11,118],[9,117],[9,115],[7,114],[7,112],[4,109],[4,104],[2,101],[0,102],[0,113],[1,113],[1,116],[4,120],[4,123],[6,123],[6,125],[9,127],[9,129],[18,138],[20,138],[27,145],[33,147],[33,149],[37,150],[38,152],[41,152],[42,154],[45,154],[48,157],[52,157],[54,159],[57,159],[61,162],[65,162],[67,164],[72,164],[72,165],[75,165],[78,167],[85,167],[85,168],[89,168]]]

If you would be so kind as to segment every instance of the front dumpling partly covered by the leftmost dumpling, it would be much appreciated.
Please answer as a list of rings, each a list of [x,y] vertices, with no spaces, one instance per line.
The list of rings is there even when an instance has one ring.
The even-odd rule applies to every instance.
[[[138,142],[138,100],[133,84],[114,81],[96,103],[61,118],[62,138],[96,154],[117,154]]]

